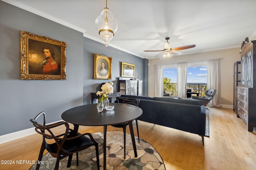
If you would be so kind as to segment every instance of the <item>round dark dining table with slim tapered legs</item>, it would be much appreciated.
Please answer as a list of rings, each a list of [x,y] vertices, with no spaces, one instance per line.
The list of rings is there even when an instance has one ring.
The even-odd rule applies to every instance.
[[[132,145],[134,149],[134,156],[137,157],[137,150],[134,138],[134,131],[132,121],[142,115],[142,109],[130,104],[110,103],[114,105],[112,111],[104,109],[98,112],[97,104],[88,104],[73,107],[64,111],[61,118],[64,121],[74,124],[74,130],[78,131],[79,125],[83,126],[104,126],[104,144],[103,144],[103,169],[106,170],[106,133],[107,126],[124,122],[129,122],[129,129],[132,138]]]

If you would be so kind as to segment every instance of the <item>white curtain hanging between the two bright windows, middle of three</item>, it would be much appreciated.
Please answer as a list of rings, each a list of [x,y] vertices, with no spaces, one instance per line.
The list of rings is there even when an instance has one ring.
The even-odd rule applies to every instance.
[[[188,62],[177,63],[177,88],[178,88],[179,98],[186,98],[187,72],[188,72]]]

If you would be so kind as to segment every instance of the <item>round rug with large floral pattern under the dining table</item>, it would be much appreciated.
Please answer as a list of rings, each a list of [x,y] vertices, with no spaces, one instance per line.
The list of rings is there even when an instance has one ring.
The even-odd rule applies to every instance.
[[[100,169],[103,169],[103,132],[93,133],[92,136],[99,143]],[[156,149],[149,143],[136,138],[138,157],[134,157],[131,135],[126,133],[126,156],[124,160],[124,133],[120,131],[107,132],[107,170],[165,170],[164,162]],[[95,147],[79,152],[79,166],[76,166],[76,154],[73,155],[70,168],[67,168],[68,157],[60,160],[59,170],[97,170]],[[40,170],[54,169],[56,158],[49,153],[42,158],[44,164]],[[35,170],[34,164],[30,170]]]

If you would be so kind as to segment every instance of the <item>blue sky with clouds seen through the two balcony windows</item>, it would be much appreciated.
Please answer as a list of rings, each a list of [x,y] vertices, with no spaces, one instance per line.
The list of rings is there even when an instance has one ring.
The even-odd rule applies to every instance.
[[[171,79],[171,83],[177,83],[177,68],[164,69],[163,77]],[[207,83],[207,67],[188,67],[187,83]]]

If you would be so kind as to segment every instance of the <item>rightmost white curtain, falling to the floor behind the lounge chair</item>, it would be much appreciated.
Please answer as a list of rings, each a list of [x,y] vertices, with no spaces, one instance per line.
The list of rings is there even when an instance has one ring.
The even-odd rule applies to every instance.
[[[208,59],[207,62],[207,88],[216,89],[214,98],[208,103],[210,107],[222,107],[218,104],[220,59]]]

